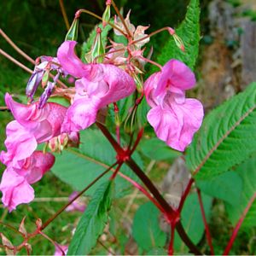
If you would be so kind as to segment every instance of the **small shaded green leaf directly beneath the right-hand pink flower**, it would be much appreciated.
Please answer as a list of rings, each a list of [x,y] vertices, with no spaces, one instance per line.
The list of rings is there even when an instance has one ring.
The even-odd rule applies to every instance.
[[[157,137],[143,139],[139,147],[142,153],[152,160],[173,160],[181,155],[180,152],[168,147]]]

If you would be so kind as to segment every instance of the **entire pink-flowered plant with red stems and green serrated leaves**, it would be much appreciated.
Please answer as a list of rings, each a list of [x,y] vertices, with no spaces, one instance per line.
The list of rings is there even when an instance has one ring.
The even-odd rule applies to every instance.
[[[84,13],[101,23],[79,48],[79,18]],[[90,253],[106,226],[119,222],[114,218],[113,201],[127,195],[132,186],[148,200],[137,210],[132,225],[139,253],[206,253],[199,246],[205,232],[207,252],[214,254],[207,224],[212,198],[226,203],[235,225],[224,254],[230,253],[241,224],[243,228],[255,225],[256,172],[250,166],[256,162],[256,84],[209,113],[202,125],[201,102],[186,97],[196,84],[192,70],[200,39],[199,13],[198,0],[191,0],[176,31],[164,27],[147,33],[148,26],[131,23],[132,11],[124,18],[108,0],[102,17],[79,9],[56,55],[35,61],[1,30],[3,38],[35,64],[26,84],[27,102],[17,102],[11,92],[5,95],[14,120],[6,126],[6,150],[0,154],[6,166],[0,183],[3,207],[12,212],[32,202],[32,184],[49,170],[79,190],[48,220],[38,218],[31,232],[26,231],[25,217],[18,230],[2,223],[22,237],[20,244],[13,244],[1,233],[6,253],[23,249],[32,253],[30,241],[36,236],[52,242],[55,255]],[[170,39],[160,56],[153,57],[147,45],[159,32],[169,33]],[[1,54],[15,61],[2,49]],[[31,72],[19,61],[15,63]],[[44,89],[41,96],[37,96],[39,87]],[[152,139],[143,138],[144,130]],[[141,150],[137,150],[139,144]],[[140,154],[147,156],[148,148],[152,159],[161,159],[160,152],[167,152],[170,158],[175,155],[182,164],[186,162],[190,175],[188,180],[179,180],[183,185],[176,189],[176,202],[143,172]],[[230,193],[236,186],[235,200]],[[90,196],[87,205],[81,199],[84,193]],[[61,244],[44,229],[65,210],[82,212],[82,216],[73,236]],[[164,229],[160,229],[160,219]],[[107,250],[125,253],[121,246]]]

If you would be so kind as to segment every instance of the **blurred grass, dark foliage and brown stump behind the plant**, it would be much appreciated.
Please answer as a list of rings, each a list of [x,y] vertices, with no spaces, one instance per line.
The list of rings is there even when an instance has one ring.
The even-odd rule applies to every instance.
[[[97,15],[102,15],[104,1],[102,0],[67,0],[63,1],[67,18],[71,24],[73,15],[78,9],[89,9]],[[124,14],[131,9],[131,23],[134,25],[150,25],[148,31],[153,32],[163,26],[177,27],[186,13],[189,0],[116,0],[119,7],[123,7]],[[61,14],[60,2],[49,0],[2,0],[0,1],[0,28],[7,33],[20,49],[35,59],[40,55],[55,55],[56,49],[64,40],[67,28]],[[201,49],[196,68],[198,86],[192,94],[203,102],[206,111],[218,106],[221,102],[243,90],[247,84],[256,81],[256,1],[255,0],[201,0]],[[88,15],[81,15],[79,25],[79,43],[83,43],[98,20]],[[152,38],[154,55],[169,37],[163,32]],[[15,59],[33,69],[32,64],[18,55],[3,38],[0,38],[0,48]],[[25,93],[29,75],[0,55],[0,106],[4,106],[3,96],[6,91],[22,95]],[[12,119],[7,112],[0,112],[0,149],[3,149],[5,125]],[[1,165],[1,164],[0,164]],[[156,166],[155,172],[168,171],[170,163],[162,162]],[[0,166],[3,171],[3,166]],[[153,170],[154,171],[154,170]],[[154,177],[154,172],[152,172]],[[160,180],[160,177],[157,178]],[[32,204],[18,207],[18,210],[8,214],[0,208],[0,221],[11,222],[18,226],[20,216],[27,216],[28,220],[38,218],[42,213],[44,218],[53,214],[59,207],[59,197],[67,198],[72,189],[61,183],[53,174],[49,173],[40,183],[34,185],[38,198],[45,201],[35,201]],[[49,198],[55,197],[56,201]],[[62,202],[63,204],[63,202]],[[214,216],[214,212],[216,216]],[[47,217],[45,217],[47,218]],[[55,241],[67,243],[70,230],[78,221],[79,213],[65,213],[51,224],[47,234]],[[219,202],[214,205],[212,216],[213,243],[217,245],[219,253],[230,236],[230,225],[223,225],[228,219],[224,215],[224,206]],[[3,227],[0,226],[0,231]],[[214,231],[215,230],[215,231]],[[241,232],[234,251],[237,254],[255,253],[256,230]],[[7,232],[7,230],[5,230]],[[127,235],[129,236],[129,235]],[[129,238],[129,237],[128,237]],[[16,239],[16,238],[15,238]],[[254,239],[254,240],[253,240]],[[129,240],[129,239],[128,239]],[[128,244],[131,251],[137,253],[136,246]],[[40,246],[37,246],[40,241]],[[202,241],[203,242],[203,241]],[[33,240],[33,253],[52,254],[54,247],[42,237]],[[135,249],[133,249],[135,247]],[[102,247],[96,248],[101,253]],[[0,249],[0,253],[1,249]],[[24,253],[24,252],[23,252]],[[4,254],[4,253],[3,253]]]

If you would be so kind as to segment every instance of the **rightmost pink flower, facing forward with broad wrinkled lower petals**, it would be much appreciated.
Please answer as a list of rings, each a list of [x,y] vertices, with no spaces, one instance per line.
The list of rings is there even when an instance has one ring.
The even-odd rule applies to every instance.
[[[145,82],[149,124],[160,140],[180,151],[191,143],[204,115],[201,102],[185,98],[185,90],[194,86],[194,73],[177,60],[168,61]]]

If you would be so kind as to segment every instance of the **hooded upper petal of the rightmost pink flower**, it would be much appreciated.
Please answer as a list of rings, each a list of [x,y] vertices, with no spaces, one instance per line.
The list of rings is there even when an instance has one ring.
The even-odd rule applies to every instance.
[[[188,90],[195,86],[195,74],[183,62],[168,61],[162,68],[155,96],[164,94],[167,87]]]

